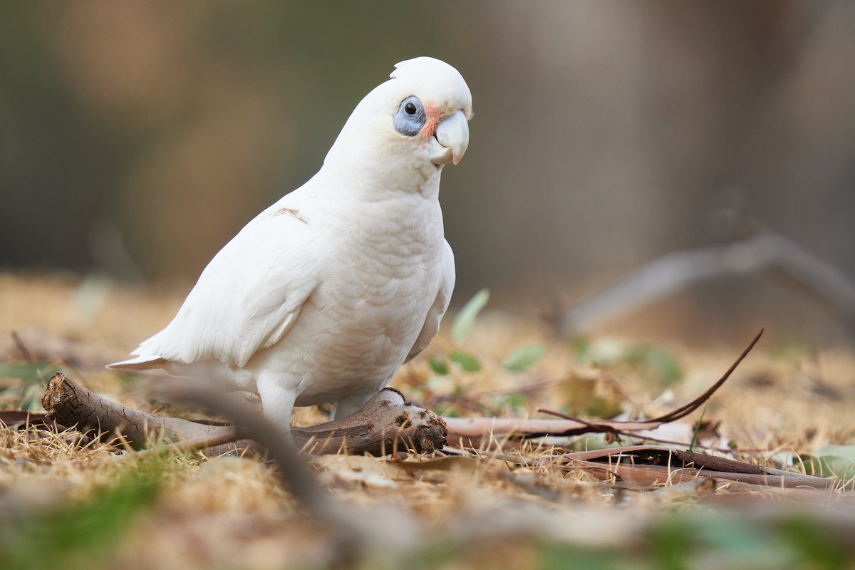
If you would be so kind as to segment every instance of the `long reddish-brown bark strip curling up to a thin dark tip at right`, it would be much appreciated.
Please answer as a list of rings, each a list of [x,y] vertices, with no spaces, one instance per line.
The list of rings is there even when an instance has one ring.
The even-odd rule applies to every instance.
[[[445,425],[448,426],[448,442],[451,445],[462,445],[463,447],[480,447],[484,438],[540,438],[544,436],[574,436],[583,433],[614,433],[623,434],[640,430],[653,430],[671,421],[680,420],[700,408],[710,397],[722,387],[722,385],[734,373],[740,362],[748,356],[748,353],[763,336],[764,329],[752,339],[742,354],[730,365],[722,377],[716,380],[707,391],[691,402],[671,410],[657,418],[646,421],[608,421],[593,420],[582,421],[569,416],[563,416],[556,412],[549,412],[561,416],[561,419],[534,419],[517,420],[512,418],[446,418]],[[545,411],[545,410],[541,410]]]

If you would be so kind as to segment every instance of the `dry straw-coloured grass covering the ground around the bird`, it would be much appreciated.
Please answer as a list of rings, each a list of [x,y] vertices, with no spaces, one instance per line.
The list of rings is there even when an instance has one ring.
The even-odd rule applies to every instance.
[[[75,379],[121,403],[162,409],[148,401],[144,381],[122,379],[104,371],[103,363],[121,358],[156,332],[185,292],[0,274],[0,362],[24,360],[9,334],[15,331],[33,360],[64,366]],[[501,367],[511,349],[530,343],[545,345],[543,361],[525,373]],[[448,377],[435,378],[428,356],[460,348],[481,361],[481,371],[452,368]],[[698,351],[609,338],[571,345],[553,338],[536,320],[502,313],[483,315],[463,347],[452,346],[442,334],[428,352],[404,367],[393,383],[416,403],[462,415],[531,417],[538,408],[657,414],[703,391],[735,356],[723,348]],[[676,377],[674,367],[679,368]],[[0,408],[20,406],[22,380],[2,382],[7,389],[0,391]],[[707,441],[769,450],[739,456],[765,464],[771,464],[775,451],[855,444],[853,417],[855,359],[846,351],[809,347],[761,348],[705,409],[706,420],[720,422],[717,436]],[[296,418],[305,424],[323,419],[315,408],[300,410]],[[691,426],[686,429],[691,432]],[[681,436],[679,429],[671,434]],[[9,567],[343,563],[339,549],[331,546],[337,544],[334,529],[305,514],[283,490],[274,467],[231,456],[169,456],[141,464],[121,450],[118,444],[86,444],[72,434],[0,428],[0,510],[8,514],[0,521],[6,537],[0,539],[0,554],[11,561]],[[537,457],[548,450],[528,444],[519,452]],[[852,532],[852,515],[840,510],[852,504],[840,491],[784,495],[744,492],[738,485],[685,484],[640,491],[557,465],[520,467],[488,456],[411,455],[401,462],[334,455],[311,464],[341,508],[369,529],[355,550],[347,550],[351,558],[345,561],[355,567],[563,567],[567,561],[586,567],[588,560],[589,567],[593,561],[599,567],[685,567],[686,556],[692,566],[721,567],[740,552],[747,552],[745,560],[754,567],[802,562],[852,567],[852,549],[835,550],[840,545],[834,532],[813,537],[799,530],[799,521],[809,517],[815,527]],[[140,478],[139,473],[149,474]],[[117,489],[142,491],[117,495]],[[722,511],[723,504],[739,508],[738,517]],[[117,510],[116,505],[127,507]],[[109,532],[114,534],[87,531],[87,516],[113,521]],[[744,517],[753,530],[729,537],[728,528]],[[53,544],[32,549],[27,524],[38,526],[32,532],[52,538]],[[791,541],[787,532],[793,528],[828,556],[805,554],[813,550]],[[10,529],[17,534],[9,534]],[[775,552],[758,556],[766,549]]]

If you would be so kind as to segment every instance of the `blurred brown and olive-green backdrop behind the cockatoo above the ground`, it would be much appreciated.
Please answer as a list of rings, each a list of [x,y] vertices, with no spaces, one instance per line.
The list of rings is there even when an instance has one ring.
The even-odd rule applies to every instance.
[[[442,183],[457,306],[489,287],[493,305],[565,332],[744,344],[767,325],[851,344],[846,0],[3,3],[0,269],[189,290],[316,172],[392,65],[420,55],[457,67],[475,103]],[[769,232],[785,261],[795,246],[802,279],[710,249]],[[669,288],[660,267],[667,294],[565,314],[698,249],[707,279],[692,269]]]

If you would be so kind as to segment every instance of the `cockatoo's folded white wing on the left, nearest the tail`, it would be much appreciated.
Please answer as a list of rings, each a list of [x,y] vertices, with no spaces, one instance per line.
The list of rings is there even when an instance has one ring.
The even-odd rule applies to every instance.
[[[298,210],[265,210],[210,261],[172,322],[127,362],[215,359],[243,367],[288,332],[323,263]]]

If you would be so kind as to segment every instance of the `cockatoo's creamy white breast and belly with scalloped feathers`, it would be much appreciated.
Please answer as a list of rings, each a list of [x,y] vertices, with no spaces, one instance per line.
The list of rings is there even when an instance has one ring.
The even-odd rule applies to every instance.
[[[271,349],[303,379],[304,401],[335,399],[359,391],[360,383],[381,386],[391,378],[416,343],[443,279],[445,238],[435,200],[356,202],[322,220],[328,251],[318,286]]]

